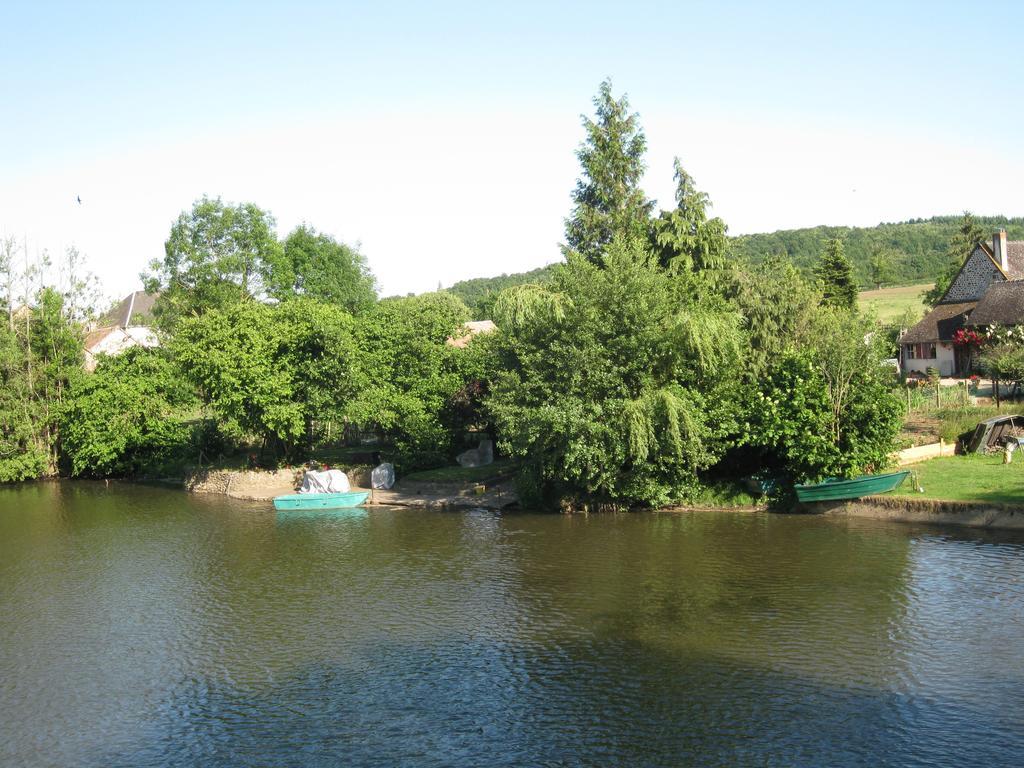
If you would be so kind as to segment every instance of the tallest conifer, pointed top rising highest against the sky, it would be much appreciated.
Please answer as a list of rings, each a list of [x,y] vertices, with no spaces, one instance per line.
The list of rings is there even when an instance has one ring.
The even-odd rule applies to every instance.
[[[587,138],[577,151],[583,174],[572,191],[574,208],[565,221],[568,248],[599,263],[612,239],[644,238],[653,201],[640,189],[647,139],[629,100],[611,95],[605,80],[594,98],[595,119],[583,117]]]

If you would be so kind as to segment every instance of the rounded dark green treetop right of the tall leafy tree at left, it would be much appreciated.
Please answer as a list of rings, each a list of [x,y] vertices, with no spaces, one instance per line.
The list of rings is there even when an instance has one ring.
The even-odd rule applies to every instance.
[[[279,299],[308,296],[352,313],[377,300],[366,256],[307,224],[297,226],[285,239],[284,259],[275,265],[271,280]]]

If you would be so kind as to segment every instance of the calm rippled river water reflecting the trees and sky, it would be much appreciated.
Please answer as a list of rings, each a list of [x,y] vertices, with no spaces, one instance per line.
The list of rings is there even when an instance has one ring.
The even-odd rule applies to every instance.
[[[3,766],[1019,766],[1024,538],[0,489]]]

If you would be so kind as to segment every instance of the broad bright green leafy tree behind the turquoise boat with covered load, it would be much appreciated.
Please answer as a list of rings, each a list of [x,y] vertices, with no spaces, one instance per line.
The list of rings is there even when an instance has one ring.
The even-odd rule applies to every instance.
[[[343,418],[364,388],[354,321],[313,299],[211,309],[182,321],[172,345],[228,428],[288,459],[309,447],[314,420]]]

